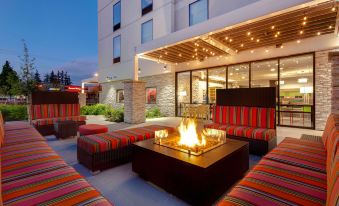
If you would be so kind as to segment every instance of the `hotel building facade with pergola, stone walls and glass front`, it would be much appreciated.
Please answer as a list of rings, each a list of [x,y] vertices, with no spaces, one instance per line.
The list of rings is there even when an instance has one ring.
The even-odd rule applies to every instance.
[[[334,0],[98,0],[100,102],[138,123],[270,86],[277,125],[323,130],[339,111],[338,22]]]

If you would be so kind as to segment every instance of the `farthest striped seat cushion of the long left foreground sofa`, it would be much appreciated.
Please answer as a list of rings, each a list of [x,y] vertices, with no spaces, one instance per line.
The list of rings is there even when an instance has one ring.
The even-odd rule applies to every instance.
[[[10,130],[5,132],[4,145],[15,145],[28,142],[46,141],[35,128]]]

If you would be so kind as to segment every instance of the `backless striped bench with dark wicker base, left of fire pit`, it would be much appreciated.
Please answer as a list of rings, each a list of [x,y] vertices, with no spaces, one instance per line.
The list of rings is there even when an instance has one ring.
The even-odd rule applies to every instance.
[[[132,160],[132,144],[154,138],[155,131],[172,127],[150,125],[78,138],[78,161],[92,172],[108,169]]]

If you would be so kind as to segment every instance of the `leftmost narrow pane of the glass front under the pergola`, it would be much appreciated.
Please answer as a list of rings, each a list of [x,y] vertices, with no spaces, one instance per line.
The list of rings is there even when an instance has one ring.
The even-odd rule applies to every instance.
[[[190,72],[177,73],[177,106],[178,116],[182,116],[185,104],[191,102]]]

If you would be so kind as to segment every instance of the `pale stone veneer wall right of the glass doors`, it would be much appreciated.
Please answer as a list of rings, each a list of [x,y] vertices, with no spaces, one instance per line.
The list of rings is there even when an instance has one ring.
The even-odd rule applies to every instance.
[[[323,130],[331,112],[338,112],[339,57],[329,58],[339,49],[315,53],[315,129]],[[333,55],[331,55],[333,56]]]

